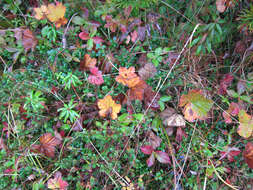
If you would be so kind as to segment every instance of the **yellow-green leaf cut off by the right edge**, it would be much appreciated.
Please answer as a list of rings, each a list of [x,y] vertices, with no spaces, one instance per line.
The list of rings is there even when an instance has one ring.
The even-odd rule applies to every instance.
[[[249,138],[253,133],[253,118],[249,114],[246,113],[245,110],[241,110],[239,112],[239,122],[240,125],[237,129],[237,133],[244,137]]]

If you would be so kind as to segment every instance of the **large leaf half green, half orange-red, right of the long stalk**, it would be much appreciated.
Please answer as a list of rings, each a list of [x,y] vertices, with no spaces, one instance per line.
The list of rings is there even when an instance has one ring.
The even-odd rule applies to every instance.
[[[201,90],[190,90],[188,94],[181,96],[179,106],[184,107],[185,119],[193,122],[196,119],[204,120],[212,104],[212,100],[205,98]]]

